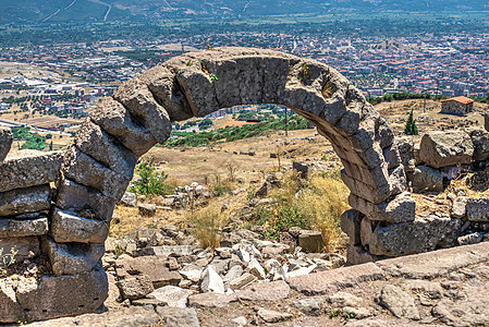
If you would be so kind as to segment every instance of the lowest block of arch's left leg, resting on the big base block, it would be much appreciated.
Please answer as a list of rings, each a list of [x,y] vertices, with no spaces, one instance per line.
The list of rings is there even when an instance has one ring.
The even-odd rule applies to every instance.
[[[47,254],[56,276],[88,272],[105,253],[103,244],[56,243],[42,239],[42,253]]]

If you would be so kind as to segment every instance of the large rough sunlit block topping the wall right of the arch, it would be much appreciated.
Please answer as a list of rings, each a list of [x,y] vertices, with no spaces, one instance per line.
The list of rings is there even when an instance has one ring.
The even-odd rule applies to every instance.
[[[433,168],[468,165],[473,155],[474,144],[470,136],[462,131],[425,134],[419,148],[420,159]]]

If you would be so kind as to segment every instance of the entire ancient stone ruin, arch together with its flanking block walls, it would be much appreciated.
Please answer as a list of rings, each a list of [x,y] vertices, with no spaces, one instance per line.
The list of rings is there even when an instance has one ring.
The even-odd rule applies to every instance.
[[[481,209],[489,201],[463,194],[450,216],[417,217],[408,192],[408,180],[413,189],[440,187],[445,167],[487,160],[487,132],[430,134],[417,149],[409,138],[394,140],[362,93],[322,63],[245,48],[186,53],[124,83],[63,154],[0,164],[0,249],[15,245],[17,258],[46,258],[49,267],[35,282],[0,280],[0,322],[99,307],[108,291],[103,242],[138,157],[163,143],[174,121],[253,104],[284,105],[331,142],[351,190],[352,209],[342,216],[351,263],[455,245],[465,221],[489,221]],[[8,131],[0,141],[3,159]]]

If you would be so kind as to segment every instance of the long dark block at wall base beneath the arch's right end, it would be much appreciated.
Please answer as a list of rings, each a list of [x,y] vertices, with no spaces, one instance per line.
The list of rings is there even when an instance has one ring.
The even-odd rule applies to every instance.
[[[401,256],[456,244],[462,220],[438,218],[377,227],[369,237],[374,255]]]

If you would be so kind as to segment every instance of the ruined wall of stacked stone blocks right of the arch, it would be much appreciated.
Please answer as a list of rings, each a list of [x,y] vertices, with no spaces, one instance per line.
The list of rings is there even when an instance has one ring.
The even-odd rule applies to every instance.
[[[418,194],[418,203],[407,192],[398,196],[386,206],[388,219],[382,221],[355,209],[344,213],[341,228],[350,237],[349,262],[359,264],[488,240],[489,197],[470,197],[467,187],[445,187],[467,171],[487,180],[489,133],[482,129],[431,132],[417,141],[405,136],[395,143],[406,167],[408,190]],[[427,203],[428,209],[421,203]]]

